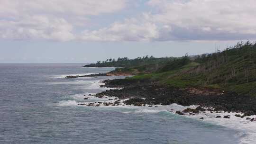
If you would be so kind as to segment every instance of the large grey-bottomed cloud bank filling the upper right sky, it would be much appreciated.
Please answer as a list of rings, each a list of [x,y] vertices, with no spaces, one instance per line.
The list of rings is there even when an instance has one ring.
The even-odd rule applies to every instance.
[[[255,0],[150,0],[148,5],[159,10],[149,14],[151,21],[173,29],[165,40],[256,38]]]

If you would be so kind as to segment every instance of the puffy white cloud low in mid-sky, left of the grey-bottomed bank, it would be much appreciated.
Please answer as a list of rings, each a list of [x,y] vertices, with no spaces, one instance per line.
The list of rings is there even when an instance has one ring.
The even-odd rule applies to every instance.
[[[83,31],[82,40],[86,41],[149,41],[158,37],[154,23],[126,19],[95,31]]]

